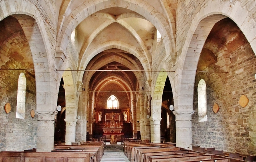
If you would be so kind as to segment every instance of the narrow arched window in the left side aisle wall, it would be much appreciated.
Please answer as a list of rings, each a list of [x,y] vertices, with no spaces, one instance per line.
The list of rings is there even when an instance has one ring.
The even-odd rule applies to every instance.
[[[18,80],[17,91],[17,106],[16,106],[16,118],[25,118],[25,103],[26,103],[26,77],[23,73],[20,73]]]

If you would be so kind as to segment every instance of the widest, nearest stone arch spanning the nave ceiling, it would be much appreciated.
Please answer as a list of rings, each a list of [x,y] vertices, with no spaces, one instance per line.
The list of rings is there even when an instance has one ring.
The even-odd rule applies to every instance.
[[[123,6],[122,4],[127,4],[126,6]],[[136,13],[139,13],[145,19],[150,21],[156,28],[159,30],[163,37],[164,46],[166,49],[167,56],[172,55],[171,53],[176,52],[176,45],[173,35],[173,28],[170,28],[170,24],[168,24],[166,19],[162,14],[159,12],[156,12],[152,6],[149,6],[147,2],[141,1],[141,3],[134,4],[130,0],[122,0],[121,2],[117,3],[114,0],[107,0],[104,2],[96,2],[96,3],[86,3],[85,5],[79,6],[76,8],[72,13],[67,16],[66,21],[63,23],[63,32],[59,32],[58,35],[58,49],[57,51],[65,51],[66,44],[68,42],[68,39],[71,35],[71,32],[74,30],[74,28],[86,17],[89,15],[92,15],[93,13],[110,8],[110,7],[122,7],[130,9]],[[102,6],[102,7],[100,7]],[[131,7],[134,6],[134,7]],[[176,60],[176,58],[172,58]],[[174,64],[174,62],[173,62]]]

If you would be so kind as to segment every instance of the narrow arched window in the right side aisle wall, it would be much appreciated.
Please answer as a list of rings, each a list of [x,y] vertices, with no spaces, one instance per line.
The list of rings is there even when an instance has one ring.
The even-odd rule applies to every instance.
[[[201,79],[197,87],[198,94],[198,121],[207,121],[207,94],[206,82]]]

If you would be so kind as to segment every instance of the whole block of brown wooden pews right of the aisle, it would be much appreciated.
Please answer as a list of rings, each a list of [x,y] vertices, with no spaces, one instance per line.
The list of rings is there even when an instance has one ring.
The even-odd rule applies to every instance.
[[[126,156],[131,162],[242,162],[194,150],[171,146],[167,143],[126,143]]]

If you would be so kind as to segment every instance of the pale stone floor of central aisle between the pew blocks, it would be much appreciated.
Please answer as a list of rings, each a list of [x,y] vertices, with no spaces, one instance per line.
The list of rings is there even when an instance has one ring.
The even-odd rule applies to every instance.
[[[123,151],[105,151],[101,162],[129,162]]]

